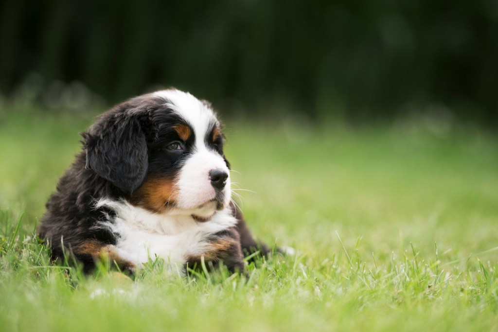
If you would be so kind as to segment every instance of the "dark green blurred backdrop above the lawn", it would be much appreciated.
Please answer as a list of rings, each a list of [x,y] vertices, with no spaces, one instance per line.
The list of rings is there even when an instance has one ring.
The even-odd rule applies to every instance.
[[[498,125],[498,1],[0,3],[3,105],[174,86],[225,116]]]

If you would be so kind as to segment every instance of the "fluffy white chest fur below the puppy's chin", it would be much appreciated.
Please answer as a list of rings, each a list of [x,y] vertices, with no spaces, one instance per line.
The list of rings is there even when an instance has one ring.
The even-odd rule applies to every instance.
[[[155,257],[171,265],[183,266],[188,256],[200,255],[210,249],[208,238],[237,223],[230,209],[218,211],[206,222],[190,216],[153,214],[125,201],[100,200],[97,207],[116,213],[99,226],[119,234],[118,254],[137,266]]]

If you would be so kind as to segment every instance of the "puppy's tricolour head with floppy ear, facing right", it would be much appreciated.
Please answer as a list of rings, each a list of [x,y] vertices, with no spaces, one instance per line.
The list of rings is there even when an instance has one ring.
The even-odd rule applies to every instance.
[[[224,136],[211,105],[164,90],[104,113],[83,133],[86,168],[155,213],[211,217],[231,200]]]

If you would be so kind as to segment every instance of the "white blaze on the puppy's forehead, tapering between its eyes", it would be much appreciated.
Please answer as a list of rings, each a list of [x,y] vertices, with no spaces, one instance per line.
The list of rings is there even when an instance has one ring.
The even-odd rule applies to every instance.
[[[204,145],[204,137],[211,125],[216,122],[216,116],[209,107],[191,94],[179,90],[162,90],[154,96],[164,98],[166,106],[174,113],[185,119],[194,130],[196,145]]]

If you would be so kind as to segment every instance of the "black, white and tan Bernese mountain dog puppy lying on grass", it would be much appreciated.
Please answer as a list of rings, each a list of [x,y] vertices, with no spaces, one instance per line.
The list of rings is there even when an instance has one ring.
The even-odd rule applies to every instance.
[[[245,254],[269,253],[231,200],[224,135],[208,102],[174,89],[142,95],[82,136],[38,228],[53,258],[70,254],[85,272],[103,257],[130,273],[156,257],[183,272],[201,259],[243,272]]]

